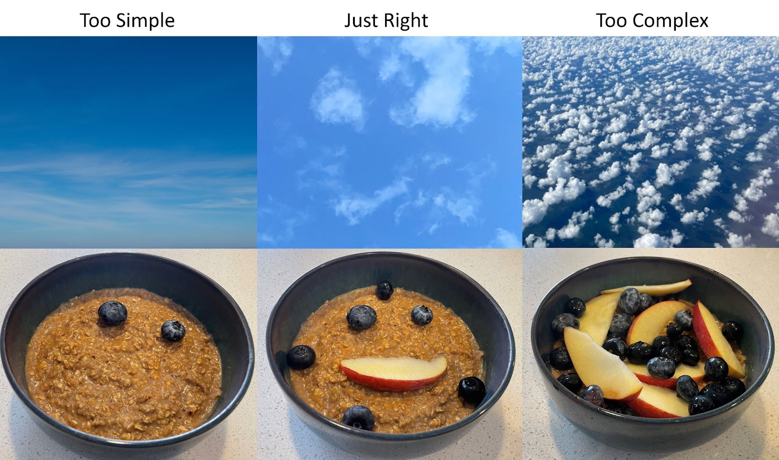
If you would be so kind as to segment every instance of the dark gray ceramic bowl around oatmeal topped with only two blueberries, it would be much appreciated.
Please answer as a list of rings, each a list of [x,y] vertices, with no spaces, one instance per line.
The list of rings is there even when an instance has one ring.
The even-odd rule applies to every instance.
[[[72,297],[111,287],[136,287],[168,297],[191,311],[213,335],[222,360],[222,395],[209,420],[178,436],[153,441],[120,441],[74,430],[39,409],[30,399],[24,373],[27,343],[43,319]],[[174,455],[203,439],[232,412],[249,388],[254,368],[252,333],[230,294],[212,279],[167,258],[112,252],[86,255],[57,265],[33,279],[13,300],[0,335],[5,374],[23,406],[51,437],[92,458],[118,455]]]

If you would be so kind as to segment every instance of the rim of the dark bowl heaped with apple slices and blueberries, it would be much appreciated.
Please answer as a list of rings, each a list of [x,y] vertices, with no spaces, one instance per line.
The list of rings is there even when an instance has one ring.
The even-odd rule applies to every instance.
[[[543,359],[541,358],[541,351],[538,346],[538,336],[535,333],[538,328],[539,318],[541,316],[541,307],[547,304],[548,301],[550,300],[550,297],[552,297],[552,293],[558,290],[559,286],[561,286],[563,283],[568,282],[569,279],[573,279],[576,276],[582,275],[584,272],[590,271],[592,269],[601,268],[605,265],[612,265],[615,264],[616,262],[630,263],[635,261],[642,261],[642,262],[654,261],[658,263],[668,263],[668,262],[679,263],[681,265],[688,265],[696,269],[703,270],[703,272],[708,272],[710,275],[716,277],[717,279],[720,279],[721,281],[730,284],[731,287],[735,288],[735,290],[737,290],[744,297],[746,297],[749,303],[752,304],[752,306],[756,309],[757,313],[760,315],[760,318],[763,320],[763,325],[765,325],[767,328],[769,351],[768,351],[768,361],[766,367],[764,367],[763,372],[761,372],[757,376],[756,380],[753,382],[753,385],[750,385],[749,388],[746,389],[746,392],[738,396],[738,398],[734,399],[733,401],[728,402],[728,404],[718,407],[717,409],[710,410],[705,413],[696,414],[694,416],[653,419],[649,417],[624,415],[624,414],[612,412],[607,409],[603,409],[602,407],[594,406],[593,404],[590,404],[589,402],[586,402],[580,397],[574,395],[573,392],[570,392],[567,388],[562,386],[562,384],[559,381],[557,381],[556,378],[552,377],[552,373],[548,370],[548,367],[546,366],[546,364],[543,362]],[[753,297],[746,292],[746,290],[744,290],[741,286],[739,286],[738,283],[735,283],[735,281],[728,278],[727,276],[724,276],[720,272],[717,272],[713,269],[709,269],[708,267],[704,267],[703,265],[696,264],[695,262],[689,262],[678,258],[657,257],[657,256],[633,256],[633,257],[624,257],[624,258],[614,258],[603,262],[597,262],[592,265],[587,265],[587,267],[584,267],[583,269],[577,270],[576,272],[573,272],[569,276],[566,276],[564,279],[559,281],[559,283],[556,283],[555,286],[552,287],[552,289],[549,290],[548,293],[546,293],[543,300],[541,300],[541,303],[538,304],[538,308],[536,309],[536,312],[533,315],[533,322],[530,325],[530,342],[531,342],[531,349],[533,351],[534,360],[538,365],[539,369],[541,369],[541,374],[544,376],[543,378],[547,379],[549,383],[551,383],[551,385],[553,385],[559,392],[562,392],[562,394],[565,395],[566,398],[569,399],[569,401],[572,401],[576,405],[583,407],[586,410],[590,410],[593,413],[601,414],[601,416],[612,417],[615,418],[616,420],[623,420],[627,423],[636,423],[639,425],[675,425],[675,424],[695,423],[697,420],[703,420],[711,416],[718,416],[721,413],[724,413],[729,409],[734,408],[735,406],[741,405],[744,401],[746,401],[746,399],[749,398],[750,395],[753,395],[753,393],[756,392],[758,388],[760,388],[760,385],[763,384],[763,381],[765,381],[768,372],[770,371],[771,365],[774,362],[774,348],[775,348],[774,332],[771,328],[770,322],[768,321],[765,312],[763,311],[762,308],[760,308],[760,305],[757,304],[756,300],[754,300]]]

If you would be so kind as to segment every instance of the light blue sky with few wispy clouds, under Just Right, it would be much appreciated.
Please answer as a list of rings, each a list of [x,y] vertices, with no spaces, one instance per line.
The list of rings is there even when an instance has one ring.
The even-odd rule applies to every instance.
[[[260,37],[259,248],[520,247],[519,38]]]

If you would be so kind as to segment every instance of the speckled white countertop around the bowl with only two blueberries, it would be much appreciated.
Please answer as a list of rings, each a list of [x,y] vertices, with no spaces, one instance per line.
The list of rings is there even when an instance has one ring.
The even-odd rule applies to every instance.
[[[44,270],[80,255],[103,252],[99,250],[17,250],[0,249],[0,315],[5,312],[16,294],[35,276]],[[189,265],[219,283],[238,302],[243,310],[252,335],[257,342],[257,258],[256,250],[138,250],[161,255]],[[258,360],[259,361],[259,360]],[[3,376],[0,391],[0,458],[75,460],[89,457],[90,452],[74,453],[52,441],[37,427],[22,402],[13,393]],[[257,390],[256,381],[236,409],[206,438],[189,451],[175,458],[180,459],[244,459],[257,458]],[[146,457],[146,458],[154,458]]]

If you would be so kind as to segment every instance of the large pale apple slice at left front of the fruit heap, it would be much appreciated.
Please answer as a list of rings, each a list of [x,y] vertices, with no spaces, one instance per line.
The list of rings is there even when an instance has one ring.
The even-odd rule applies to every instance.
[[[597,385],[605,399],[627,402],[641,392],[641,382],[619,356],[608,353],[587,332],[565,328],[563,337],[576,374],[584,385]]]

